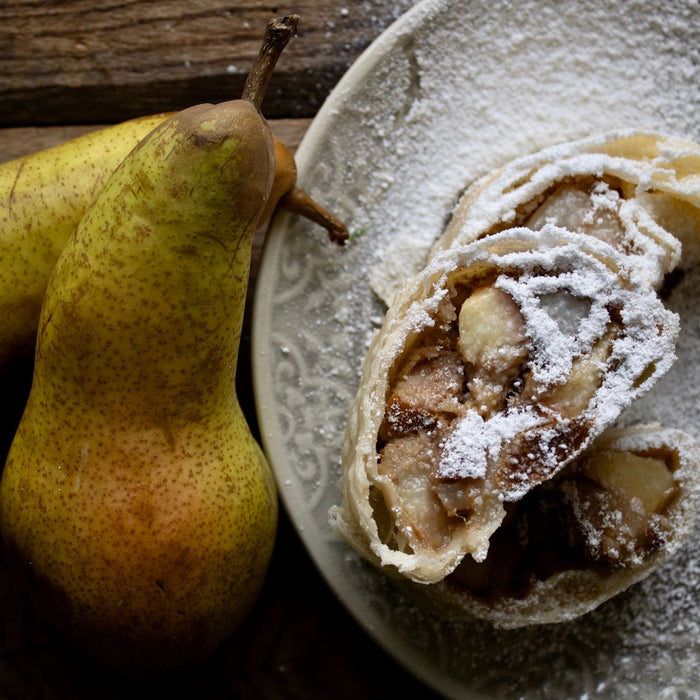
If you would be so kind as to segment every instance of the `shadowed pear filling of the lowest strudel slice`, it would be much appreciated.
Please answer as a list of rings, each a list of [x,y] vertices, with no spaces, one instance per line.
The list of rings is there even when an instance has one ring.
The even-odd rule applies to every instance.
[[[639,564],[670,533],[677,468],[670,451],[593,451],[509,504],[486,559],[465,557],[449,580],[494,600],[525,597],[534,582],[563,571]]]

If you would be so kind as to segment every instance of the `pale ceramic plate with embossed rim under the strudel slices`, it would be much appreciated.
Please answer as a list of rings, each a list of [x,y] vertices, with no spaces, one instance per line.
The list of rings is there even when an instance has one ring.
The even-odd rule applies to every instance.
[[[257,409],[280,494],[338,597],[390,654],[454,698],[700,697],[700,532],[668,566],[572,623],[494,631],[419,610],[328,526],[345,419],[384,307],[476,177],[558,141],[636,126],[700,140],[700,8],[424,0],[340,81],[297,154],[347,222],[345,249],[275,221],[254,307]],[[634,406],[700,438],[700,275],[670,299],[674,370]],[[690,387],[690,388],[687,388]]]

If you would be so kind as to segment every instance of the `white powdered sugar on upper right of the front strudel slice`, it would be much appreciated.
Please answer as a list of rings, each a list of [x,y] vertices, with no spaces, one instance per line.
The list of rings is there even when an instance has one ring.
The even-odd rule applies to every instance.
[[[469,279],[470,270],[484,265],[499,271],[493,285],[510,295],[523,318],[530,398],[488,415],[467,410],[443,445],[438,471],[451,479],[490,478],[504,459],[519,457],[500,491],[506,500],[517,500],[574,459],[668,370],[678,318],[653,290],[637,284],[624,255],[607,243],[549,224],[537,232],[508,229],[444,251],[407,282],[399,295],[406,302],[397,301],[387,313],[385,333],[399,331],[391,351],[385,348],[389,359],[406,351],[409,336],[440,324],[436,315],[448,313],[439,302],[446,299],[451,275]],[[454,315],[452,310],[442,320]],[[610,335],[615,323],[622,326]],[[569,408],[545,402],[543,409],[541,397],[566,385],[577,362],[584,363],[578,369],[583,384],[571,404],[565,400]],[[578,396],[587,391],[589,399],[580,403]],[[565,437],[568,421],[587,426],[576,450]],[[519,455],[523,440],[537,445],[536,455]],[[528,461],[537,468],[526,468]]]

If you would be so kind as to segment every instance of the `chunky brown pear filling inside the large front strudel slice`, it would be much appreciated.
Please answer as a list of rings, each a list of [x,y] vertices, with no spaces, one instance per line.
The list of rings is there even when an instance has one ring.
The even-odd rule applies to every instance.
[[[525,277],[519,282],[532,285]],[[502,280],[454,284],[436,323],[396,365],[377,445],[381,498],[374,498],[395,548],[439,549],[474,517],[495,529],[503,502],[549,478],[584,439],[586,409],[621,327],[614,309],[594,310],[552,279],[540,278],[529,320]],[[543,354],[534,347],[543,336],[528,324],[538,323],[552,325],[548,352],[561,355],[559,373],[554,358],[547,367],[533,360]],[[583,338],[592,324],[594,337]]]

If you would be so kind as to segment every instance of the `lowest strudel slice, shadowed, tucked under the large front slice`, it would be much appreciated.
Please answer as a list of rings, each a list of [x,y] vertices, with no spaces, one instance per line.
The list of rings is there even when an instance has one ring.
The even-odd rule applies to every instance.
[[[691,530],[700,451],[658,425],[610,429],[554,479],[507,505],[489,554],[412,594],[497,627],[562,622],[666,562]]]

